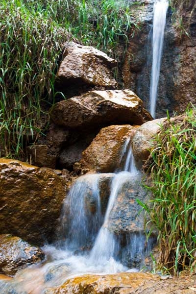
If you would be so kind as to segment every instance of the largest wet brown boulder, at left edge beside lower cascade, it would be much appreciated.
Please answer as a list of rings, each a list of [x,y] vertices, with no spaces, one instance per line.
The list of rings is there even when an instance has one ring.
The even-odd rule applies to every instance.
[[[47,168],[0,159],[0,232],[36,245],[51,241],[66,180]]]

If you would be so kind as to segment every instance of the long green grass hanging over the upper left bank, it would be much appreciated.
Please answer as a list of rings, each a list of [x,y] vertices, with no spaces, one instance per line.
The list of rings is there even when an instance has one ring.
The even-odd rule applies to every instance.
[[[117,57],[119,39],[138,27],[131,19],[125,1],[0,1],[1,157],[25,159],[24,147],[44,132],[63,43],[76,38]]]

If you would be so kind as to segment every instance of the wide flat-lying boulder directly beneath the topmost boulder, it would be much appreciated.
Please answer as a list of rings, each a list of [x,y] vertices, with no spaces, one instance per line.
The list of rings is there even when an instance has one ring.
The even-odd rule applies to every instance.
[[[139,124],[150,121],[143,102],[130,90],[91,91],[56,103],[52,121],[68,128],[95,128],[118,123]]]

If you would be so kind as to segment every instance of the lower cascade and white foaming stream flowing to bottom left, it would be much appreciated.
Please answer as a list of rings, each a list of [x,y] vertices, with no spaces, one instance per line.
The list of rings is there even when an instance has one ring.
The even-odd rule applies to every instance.
[[[17,294],[44,294],[47,289],[74,276],[130,270],[122,263],[119,252],[124,256],[129,254],[130,259],[135,255],[143,256],[144,235],[129,235],[122,250],[119,239],[110,229],[110,215],[123,185],[140,177],[129,141],[126,142],[126,154],[124,171],[113,174],[105,215],[101,208],[100,180],[106,174],[86,174],[77,178],[63,204],[58,241],[43,247],[47,256],[45,263],[17,272],[10,282],[1,281],[1,294],[15,290]]]

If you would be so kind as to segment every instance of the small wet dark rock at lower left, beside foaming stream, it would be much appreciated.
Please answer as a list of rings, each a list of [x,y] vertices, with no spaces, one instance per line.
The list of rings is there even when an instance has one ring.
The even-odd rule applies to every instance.
[[[8,234],[0,235],[0,271],[14,275],[26,266],[41,262],[44,252],[37,246]]]

